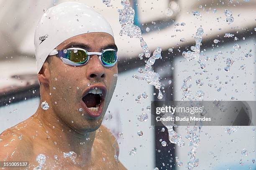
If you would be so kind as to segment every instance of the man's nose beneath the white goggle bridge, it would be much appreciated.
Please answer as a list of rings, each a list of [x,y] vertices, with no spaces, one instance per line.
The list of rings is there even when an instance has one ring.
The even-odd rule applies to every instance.
[[[90,55],[90,60],[87,65],[86,76],[89,80],[102,79],[105,77],[105,68],[101,64],[98,55]]]

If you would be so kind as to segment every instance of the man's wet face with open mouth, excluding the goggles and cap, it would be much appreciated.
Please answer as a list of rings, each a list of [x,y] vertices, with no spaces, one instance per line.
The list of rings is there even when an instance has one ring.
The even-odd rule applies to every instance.
[[[108,33],[91,32],[71,37],[56,49],[80,47],[88,52],[101,52],[108,48],[115,49],[111,45],[115,46],[115,41]],[[87,64],[75,67],[65,64],[59,57],[51,57],[49,93],[54,112],[74,130],[96,130],[115,90],[117,64],[104,67],[98,55],[90,55]]]

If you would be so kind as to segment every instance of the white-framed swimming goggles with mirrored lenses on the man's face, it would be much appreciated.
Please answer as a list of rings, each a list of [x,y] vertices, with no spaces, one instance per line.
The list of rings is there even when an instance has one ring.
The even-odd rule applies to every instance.
[[[118,60],[116,50],[106,49],[101,52],[88,52],[82,48],[72,47],[64,50],[52,50],[49,55],[56,55],[67,65],[81,66],[85,65],[90,55],[98,55],[104,67],[112,67]]]

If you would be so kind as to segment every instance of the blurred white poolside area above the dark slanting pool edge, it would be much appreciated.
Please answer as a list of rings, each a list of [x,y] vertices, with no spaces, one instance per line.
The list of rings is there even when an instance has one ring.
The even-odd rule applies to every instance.
[[[12,75],[36,74],[33,37],[36,24],[43,14],[44,8],[59,4],[67,0],[0,0],[0,89],[11,85],[25,85],[26,82],[10,78]],[[75,0],[69,0],[75,1]],[[202,25],[204,39],[218,39],[225,33],[238,31],[239,33],[256,27],[256,1],[251,0],[178,0],[178,10],[175,11],[174,24],[160,30],[149,31],[143,35],[151,51],[156,47],[166,50],[170,47],[194,43],[197,27]],[[115,35],[120,58],[137,57],[143,52],[140,41],[126,35],[120,36],[118,9],[122,9],[120,0],[111,0],[113,7],[107,7],[102,0],[76,0],[86,3],[102,14],[110,23]],[[141,23],[166,19],[165,10],[169,7],[169,0],[137,0],[138,15]],[[223,2],[223,3],[222,3]],[[200,7],[202,5],[202,7]],[[217,9],[217,13],[213,10]],[[234,22],[225,21],[224,10],[231,10]],[[196,18],[192,12],[200,11],[202,17]],[[219,18],[219,19],[217,19]],[[175,26],[176,23],[185,26]],[[181,31],[176,31],[180,29]],[[181,42],[180,39],[185,41]],[[202,41],[202,43],[203,43]]]

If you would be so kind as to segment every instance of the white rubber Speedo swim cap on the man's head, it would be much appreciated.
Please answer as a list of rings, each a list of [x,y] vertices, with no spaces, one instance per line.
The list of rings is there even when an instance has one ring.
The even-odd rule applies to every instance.
[[[37,73],[54,48],[71,37],[89,32],[106,32],[114,37],[108,21],[85,4],[63,2],[44,11],[34,37]]]

